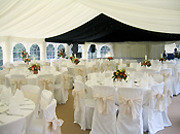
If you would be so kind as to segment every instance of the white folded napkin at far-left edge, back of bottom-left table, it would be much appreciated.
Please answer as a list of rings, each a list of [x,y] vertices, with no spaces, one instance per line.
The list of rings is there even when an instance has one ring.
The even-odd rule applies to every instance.
[[[1,92],[1,102],[3,104],[8,105],[9,99],[12,97],[11,89],[10,88],[4,88]]]

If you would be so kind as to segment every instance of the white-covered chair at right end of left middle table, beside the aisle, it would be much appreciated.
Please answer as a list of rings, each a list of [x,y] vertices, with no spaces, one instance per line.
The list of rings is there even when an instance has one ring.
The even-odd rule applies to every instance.
[[[65,83],[64,81],[64,75],[63,73],[59,74],[58,79],[56,79],[54,83],[54,98],[57,100],[58,104],[65,104],[66,101],[68,100],[68,88],[64,88],[64,84],[69,84]]]

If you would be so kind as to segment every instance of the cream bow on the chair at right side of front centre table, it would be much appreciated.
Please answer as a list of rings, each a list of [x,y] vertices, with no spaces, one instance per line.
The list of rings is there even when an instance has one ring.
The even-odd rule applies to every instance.
[[[166,109],[165,104],[164,104],[164,98],[166,96],[162,93],[157,93],[155,95],[155,98],[157,99],[156,105],[155,105],[155,109],[158,109],[159,112],[162,112]]]

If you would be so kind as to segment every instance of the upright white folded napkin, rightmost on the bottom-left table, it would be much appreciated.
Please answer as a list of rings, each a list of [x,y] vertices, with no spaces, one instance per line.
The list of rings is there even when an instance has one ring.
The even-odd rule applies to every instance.
[[[17,100],[13,97],[9,100],[9,113],[10,114],[18,114],[20,112],[20,106]]]

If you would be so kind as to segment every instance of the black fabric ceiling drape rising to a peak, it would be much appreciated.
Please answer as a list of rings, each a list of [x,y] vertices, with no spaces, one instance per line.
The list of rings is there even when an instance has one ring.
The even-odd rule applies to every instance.
[[[133,18],[132,18],[133,19]],[[67,33],[46,38],[46,42],[123,42],[123,41],[175,41],[180,34],[147,31],[128,26],[104,14],[100,14],[84,25]]]

